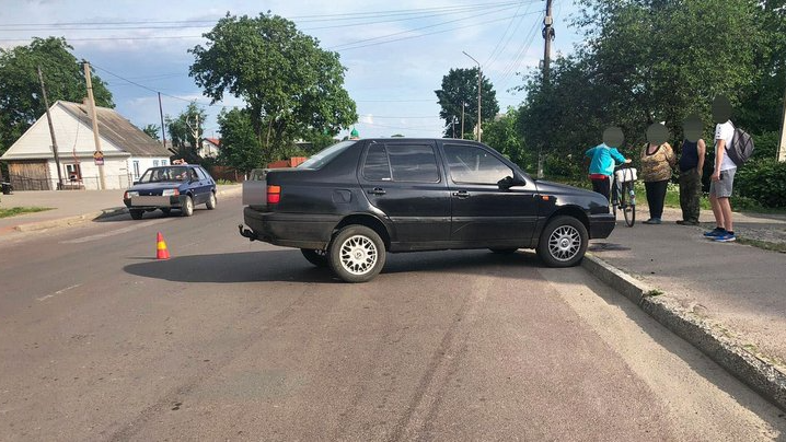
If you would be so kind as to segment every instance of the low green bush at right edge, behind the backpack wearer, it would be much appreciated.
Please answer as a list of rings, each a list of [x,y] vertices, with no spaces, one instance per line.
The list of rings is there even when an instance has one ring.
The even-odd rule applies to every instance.
[[[747,163],[737,172],[735,193],[764,207],[786,207],[786,162],[759,160]]]

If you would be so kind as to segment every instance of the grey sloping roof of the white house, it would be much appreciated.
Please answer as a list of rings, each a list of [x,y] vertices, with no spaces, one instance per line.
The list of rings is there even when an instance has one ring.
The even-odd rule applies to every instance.
[[[86,105],[63,101],[58,101],[53,106],[56,105],[62,106],[69,114],[92,127],[93,123]],[[95,113],[99,117],[99,135],[130,153],[131,156],[170,156],[172,154],[160,142],[150,138],[115,109],[96,106]]]

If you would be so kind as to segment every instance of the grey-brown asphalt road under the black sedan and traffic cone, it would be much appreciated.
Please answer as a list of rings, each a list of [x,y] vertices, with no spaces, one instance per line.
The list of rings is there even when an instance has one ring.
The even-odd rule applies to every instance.
[[[240,221],[235,197],[0,240],[0,440],[786,438],[581,268],[400,254],[346,284]]]

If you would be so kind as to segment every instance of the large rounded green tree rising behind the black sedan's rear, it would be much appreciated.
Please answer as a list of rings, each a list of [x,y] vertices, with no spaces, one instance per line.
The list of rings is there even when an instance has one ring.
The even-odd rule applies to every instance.
[[[213,103],[242,98],[266,159],[313,131],[335,135],[357,120],[338,54],[271,14],[219,20],[206,46],[189,49],[190,75]]]

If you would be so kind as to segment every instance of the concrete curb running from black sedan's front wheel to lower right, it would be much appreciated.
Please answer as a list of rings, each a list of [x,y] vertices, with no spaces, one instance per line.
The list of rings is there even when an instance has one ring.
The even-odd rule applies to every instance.
[[[617,290],[660,324],[696,347],[729,373],[786,410],[786,372],[743,347],[721,324],[702,318],[675,302],[657,295],[647,283],[636,280],[609,263],[587,254],[581,267]]]

